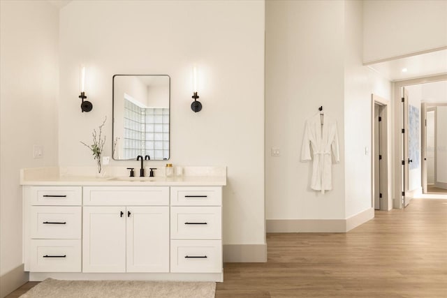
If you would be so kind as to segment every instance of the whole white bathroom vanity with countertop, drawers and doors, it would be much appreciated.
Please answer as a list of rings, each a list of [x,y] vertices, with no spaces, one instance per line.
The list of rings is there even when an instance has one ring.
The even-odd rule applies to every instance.
[[[225,167],[181,179],[45,178],[51,170],[21,173],[30,281],[223,281]]]

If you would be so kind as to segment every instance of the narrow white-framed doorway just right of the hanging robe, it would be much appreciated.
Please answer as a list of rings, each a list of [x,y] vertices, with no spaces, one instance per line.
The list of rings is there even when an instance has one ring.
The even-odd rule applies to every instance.
[[[372,94],[372,207],[391,209],[388,198],[388,100]]]

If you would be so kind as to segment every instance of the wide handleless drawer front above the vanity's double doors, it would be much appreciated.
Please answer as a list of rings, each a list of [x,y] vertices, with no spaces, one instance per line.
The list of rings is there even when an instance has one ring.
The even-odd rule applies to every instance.
[[[169,187],[95,186],[84,187],[84,205],[161,206],[169,204]]]

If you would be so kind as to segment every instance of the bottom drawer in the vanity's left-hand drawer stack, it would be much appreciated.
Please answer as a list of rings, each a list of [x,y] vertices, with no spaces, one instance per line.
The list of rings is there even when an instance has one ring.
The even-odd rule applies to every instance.
[[[29,271],[80,272],[80,240],[31,240]]]

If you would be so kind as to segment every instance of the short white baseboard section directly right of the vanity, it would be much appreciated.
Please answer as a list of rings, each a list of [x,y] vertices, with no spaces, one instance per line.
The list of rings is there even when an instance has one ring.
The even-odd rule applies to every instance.
[[[223,262],[267,262],[267,244],[224,244]]]

